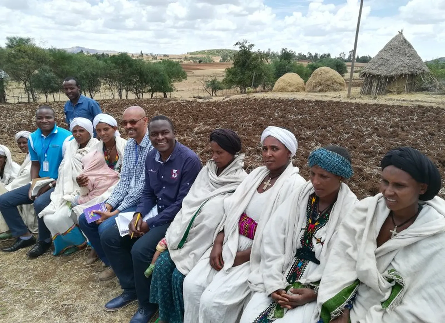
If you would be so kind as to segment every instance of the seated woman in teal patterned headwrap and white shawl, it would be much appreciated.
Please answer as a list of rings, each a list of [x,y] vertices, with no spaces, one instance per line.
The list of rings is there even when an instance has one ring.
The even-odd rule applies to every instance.
[[[316,323],[317,289],[337,228],[357,201],[351,157],[327,146],[309,155],[310,181],[297,188],[263,231],[260,266],[241,323]]]

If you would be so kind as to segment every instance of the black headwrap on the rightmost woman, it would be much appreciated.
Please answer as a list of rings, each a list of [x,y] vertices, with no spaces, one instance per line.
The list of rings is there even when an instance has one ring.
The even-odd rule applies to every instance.
[[[441,189],[439,170],[427,156],[416,149],[398,147],[388,151],[380,162],[380,167],[383,170],[390,165],[407,172],[417,182],[428,185],[425,194],[419,196],[422,201],[431,200]]]

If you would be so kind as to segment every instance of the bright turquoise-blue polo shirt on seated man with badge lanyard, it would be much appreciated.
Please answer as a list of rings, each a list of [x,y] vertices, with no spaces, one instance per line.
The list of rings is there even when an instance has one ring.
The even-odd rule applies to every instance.
[[[50,177],[57,180],[59,165],[65,153],[64,143],[73,139],[71,132],[54,126],[53,131],[46,137],[40,129],[34,131],[28,139],[29,157],[31,161],[40,163],[40,177]],[[46,157],[45,157],[46,154]],[[48,171],[44,171],[44,161],[48,162]]]

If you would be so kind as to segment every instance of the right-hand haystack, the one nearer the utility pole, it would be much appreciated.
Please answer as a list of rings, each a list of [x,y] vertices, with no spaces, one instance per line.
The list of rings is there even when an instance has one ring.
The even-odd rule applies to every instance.
[[[342,91],[346,86],[344,78],[336,70],[323,66],[312,73],[306,82],[306,92]]]

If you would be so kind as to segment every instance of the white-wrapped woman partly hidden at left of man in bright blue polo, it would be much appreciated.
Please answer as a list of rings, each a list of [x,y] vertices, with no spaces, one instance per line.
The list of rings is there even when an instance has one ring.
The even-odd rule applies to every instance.
[[[29,131],[19,131],[16,133],[17,146],[19,147],[21,152],[26,154],[26,156],[17,173],[17,177],[14,180],[12,180],[8,185],[4,186],[4,190],[6,191],[12,191],[13,189],[24,186],[31,181],[31,159],[29,158],[28,154],[29,135],[31,135],[31,132]],[[5,192],[4,190],[0,184],[0,191]],[[32,233],[37,232],[39,227],[37,224],[37,218],[34,212],[33,205],[32,204],[20,205],[18,209],[29,231]],[[0,213],[0,240],[8,239],[10,237],[12,237],[12,235],[9,232],[8,225],[6,224],[6,222],[4,222],[3,217],[1,216]]]

